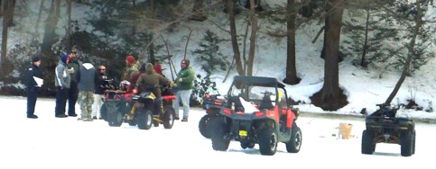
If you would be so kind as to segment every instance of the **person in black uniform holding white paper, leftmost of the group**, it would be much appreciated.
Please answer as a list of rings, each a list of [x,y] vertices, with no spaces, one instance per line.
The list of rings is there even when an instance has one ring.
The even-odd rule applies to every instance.
[[[41,58],[32,58],[32,65],[28,67],[25,74],[25,84],[27,91],[27,118],[38,119],[38,116],[34,114],[36,99],[42,85],[42,72],[40,70]],[[41,80],[39,84],[35,79]]]

